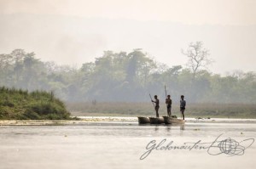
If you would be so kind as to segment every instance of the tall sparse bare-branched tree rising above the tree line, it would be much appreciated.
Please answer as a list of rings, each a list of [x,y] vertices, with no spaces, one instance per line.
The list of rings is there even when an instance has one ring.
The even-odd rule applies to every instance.
[[[188,66],[192,70],[194,77],[198,70],[207,68],[207,65],[211,65],[213,62],[212,59],[208,58],[210,55],[209,50],[203,48],[203,42],[190,42],[186,51],[182,49],[182,54],[189,58]]]

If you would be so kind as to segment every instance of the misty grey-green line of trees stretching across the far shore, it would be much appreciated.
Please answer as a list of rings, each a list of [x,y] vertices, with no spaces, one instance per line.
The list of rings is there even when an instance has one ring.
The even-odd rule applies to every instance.
[[[165,99],[166,85],[174,102],[183,94],[189,103],[255,104],[255,72],[220,76],[205,70],[211,60],[201,42],[191,43],[183,54],[189,58],[186,67],[168,67],[137,48],[131,53],[105,51],[94,62],[74,68],[15,49],[0,54],[0,86],[53,91],[68,102],[146,102],[148,93]]]

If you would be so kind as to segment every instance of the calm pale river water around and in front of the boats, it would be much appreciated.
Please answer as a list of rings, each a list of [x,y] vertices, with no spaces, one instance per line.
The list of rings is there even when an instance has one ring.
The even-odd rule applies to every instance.
[[[255,121],[242,120],[1,126],[0,168],[249,169],[256,166],[254,138]]]

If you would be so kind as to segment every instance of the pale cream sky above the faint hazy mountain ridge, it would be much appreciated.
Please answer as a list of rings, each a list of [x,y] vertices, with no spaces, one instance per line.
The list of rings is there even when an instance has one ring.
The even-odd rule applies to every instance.
[[[255,25],[255,0],[0,0],[0,13]]]

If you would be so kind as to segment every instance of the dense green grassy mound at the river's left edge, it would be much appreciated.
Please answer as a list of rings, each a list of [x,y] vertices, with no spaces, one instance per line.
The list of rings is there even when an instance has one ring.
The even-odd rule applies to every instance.
[[[0,87],[1,120],[64,120],[70,113],[53,93]]]

